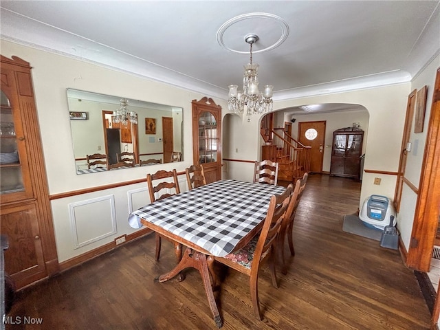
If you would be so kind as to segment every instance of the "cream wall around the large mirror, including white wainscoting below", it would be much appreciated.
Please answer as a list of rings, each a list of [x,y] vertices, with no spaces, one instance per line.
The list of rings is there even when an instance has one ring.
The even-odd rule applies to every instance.
[[[80,89],[181,107],[184,161],[160,168],[183,171],[192,164],[191,101],[204,95],[99,67],[58,54],[1,40],[1,54],[19,56],[33,67],[32,78],[39,115],[50,195],[120,181],[142,179],[157,166],[76,175],[66,89]],[[226,94],[225,94],[226,95]],[[225,102],[215,100],[222,107]],[[184,176],[179,177],[186,190]],[[127,223],[131,210],[148,203],[146,184],[135,184],[52,201],[58,260],[83,254],[115,237],[135,232]],[[99,212],[96,212],[99,210]]]

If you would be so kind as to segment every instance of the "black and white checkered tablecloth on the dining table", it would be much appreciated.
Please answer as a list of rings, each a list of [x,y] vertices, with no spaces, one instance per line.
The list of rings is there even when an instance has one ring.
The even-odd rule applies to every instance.
[[[132,228],[140,218],[180,236],[214,256],[225,256],[265,219],[270,197],[281,186],[223,180],[148,204],[130,214]]]

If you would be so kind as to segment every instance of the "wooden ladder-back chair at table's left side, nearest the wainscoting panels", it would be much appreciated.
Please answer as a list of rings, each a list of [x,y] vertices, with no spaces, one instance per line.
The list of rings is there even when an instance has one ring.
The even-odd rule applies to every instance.
[[[169,179],[172,178],[173,180],[170,181]],[[160,181],[159,181],[160,180]],[[153,186],[153,181],[155,186]],[[177,180],[177,172],[175,169],[167,171],[167,170],[158,170],[154,174],[148,173],[146,175],[146,182],[148,184],[148,193],[150,195],[150,201],[151,203],[155,201],[159,201],[160,199],[164,199],[166,197],[170,197],[173,195],[177,195],[180,193],[179,188],[179,181]],[[165,191],[162,191],[164,190]],[[174,192],[173,192],[174,190]],[[157,197],[156,197],[157,195]],[[162,245],[162,235],[155,234],[156,238],[156,254],[155,258],[156,261],[159,261],[160,257],[160,249]],[[171,240],[170,240],[171,241]],[[181,257],[181,244],[177,243],[175,241],[172,241],[174,244],[174,248],[176,253],[180,253]],[[179,251],[179,252],[177,252]],[[177,256],[179,258],[179,256]]]

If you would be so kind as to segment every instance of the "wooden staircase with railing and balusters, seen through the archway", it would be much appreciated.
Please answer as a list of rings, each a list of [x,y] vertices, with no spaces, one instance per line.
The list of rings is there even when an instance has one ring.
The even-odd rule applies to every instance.
[[[278,162],[278,180],[294,182],[310,171],[310,146],[304,146],[283,128],[261,128],[265,140],[262,155],[265,159]]]

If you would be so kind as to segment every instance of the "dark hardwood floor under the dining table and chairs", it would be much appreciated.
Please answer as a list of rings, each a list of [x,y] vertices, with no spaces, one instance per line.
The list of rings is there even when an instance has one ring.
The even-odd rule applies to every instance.
[[[223,329],[429,329],[423,294],[399,252],[342,232],[342,217],[358,210],[359,198],[352,179],[310,175],[288,274],[278,272],[276,289],[261,269],[263,321],[252,313],[248,276],[219,268]],[[6,329],[216,329],[197,271],[187,270],[181,283],[153,283],[175,265],[168,241],[159,263],[154,255],[150,235],[24,289]],[[39,318],[41,325],[25,324]]]

